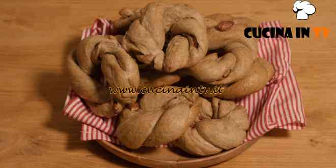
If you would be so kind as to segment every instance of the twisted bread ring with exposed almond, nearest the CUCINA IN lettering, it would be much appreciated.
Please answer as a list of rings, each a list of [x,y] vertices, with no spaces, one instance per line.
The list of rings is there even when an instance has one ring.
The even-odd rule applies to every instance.
[[[244,36],[244,29],[253,25],[247,18],[214,14],[205,17],[208,49],[225,53],[207,55],[199,63],[182,71],[212,85],[229,85],[242,79],[257,57],[257,41]]]

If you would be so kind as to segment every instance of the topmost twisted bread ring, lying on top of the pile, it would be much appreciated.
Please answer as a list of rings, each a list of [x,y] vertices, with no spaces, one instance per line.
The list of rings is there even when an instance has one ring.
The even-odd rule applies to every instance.
[[[133,16],[133,15],[131,15]],[[166,35],[173,38],[166,42]],[[141,10],[123,39],[123,48],[157,70],[174,72],[204,58],[206,26],[200,13],[186,5],[150,3]]]

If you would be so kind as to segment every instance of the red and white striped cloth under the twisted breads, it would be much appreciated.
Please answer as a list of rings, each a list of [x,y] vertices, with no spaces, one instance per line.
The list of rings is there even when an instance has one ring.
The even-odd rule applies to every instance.
[[[91,35],[111,34],[113,27],[110,23],[106,19],[97,19],[90,29],[83,31],[81,39]],[[263,22],[260,26],[281,27],[279,21]],[[290,66],[291,51],[287,39],[259,39],[258,57],[273,65],[275,75],[259,92],[236,100],[237,104],[247,109],[251,123],[245,141],[262,136],[273,128],[300,130],[306,125],[301,91]],[[94,115],[71,89],[63,113],[82,123],[82,141],[99,139],[120,145],[115,135],[116,118],[105,119]]]

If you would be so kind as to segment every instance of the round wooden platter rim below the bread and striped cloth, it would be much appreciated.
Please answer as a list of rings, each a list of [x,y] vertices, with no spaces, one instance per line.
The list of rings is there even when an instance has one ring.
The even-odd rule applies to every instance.
[[[177,147],[150,148],[141,147],[137,150],[129,150],[107,141],[97,141],[111,153],[130,162],[148,167],[205,167],[217,164],[241,154],[247,148],[258,141],[258,138],[246,142],[237,148],[223,151],[207,157],[195,157],[189,155]]]

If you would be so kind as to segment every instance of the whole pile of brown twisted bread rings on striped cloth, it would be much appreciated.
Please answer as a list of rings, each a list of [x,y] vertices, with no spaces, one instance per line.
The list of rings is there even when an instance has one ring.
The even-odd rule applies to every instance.
[[[261,90],[274,74],[244,37],[248,18],[203,17],[188,5],[151,3],[122,9],[113,35],[83,39],[67,57],[71,88],[100,117],[118,117],[117,137],[127,148],[173,144],[208,156],[239,146],[249,128],[232,99]],[[183,82],[187,82],[187,84]],[[114,93],[111,88],[177,89],[220,93]],[[186,88],[186,90],[191,88]]]

